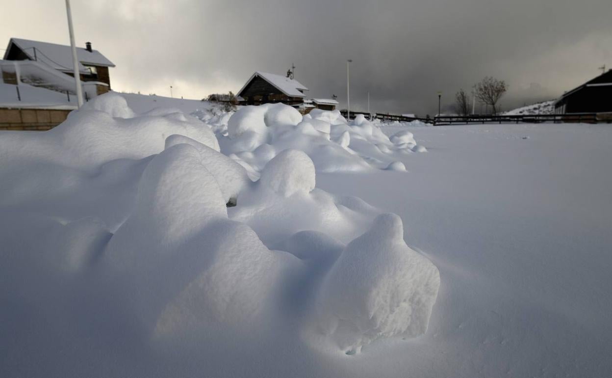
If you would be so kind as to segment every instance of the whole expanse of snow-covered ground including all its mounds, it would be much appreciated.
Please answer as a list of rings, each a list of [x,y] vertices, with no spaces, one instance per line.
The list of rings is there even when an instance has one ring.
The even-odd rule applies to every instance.
[[[0,132],[0,376],[612,374],[610,127],[122,96]]]

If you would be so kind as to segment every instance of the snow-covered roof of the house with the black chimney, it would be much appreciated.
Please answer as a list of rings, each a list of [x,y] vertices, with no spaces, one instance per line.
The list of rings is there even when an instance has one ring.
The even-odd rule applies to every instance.
[[[72,49],[67,45],[58,45],[56,43],[39,42],[36,40],[11,38],[9,46],[4,53],[4,59],[9,54],[10,46],[14,43],[26,55],[34,60],[34,49],[36,50],[36,60],[42,61],[53,67],[54,69],[72,71]],[[76,48],[76,58],[79,61],[78,68],[81,71],[87,69],[83,64],[90,66],[105,66],[114,67],[115,65],[110,60],[106,59],[100,51],[92,50],[91,52],[82,47]]]

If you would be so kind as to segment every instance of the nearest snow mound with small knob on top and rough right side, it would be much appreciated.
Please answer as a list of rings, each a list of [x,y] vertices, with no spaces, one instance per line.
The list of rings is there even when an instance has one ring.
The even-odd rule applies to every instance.
[[[319,289],[320,327],[347,353],[379,338],[425,333],[438,269],[403,240],[395,214],[376,217],[346,246]]]

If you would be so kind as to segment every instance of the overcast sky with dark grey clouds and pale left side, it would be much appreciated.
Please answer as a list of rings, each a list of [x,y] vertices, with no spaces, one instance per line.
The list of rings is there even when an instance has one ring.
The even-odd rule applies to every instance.
[[[509,109],[553,99],[612,68],[611,0],[72,0],[78,45],[111,59],[111,86],[201,99],[256,70],[296,79],[351,108],[435,113],[493,75]],[[10,37],[69,43],[64,1],[3,0]],[[2,51],[4,53],[4,51]]]

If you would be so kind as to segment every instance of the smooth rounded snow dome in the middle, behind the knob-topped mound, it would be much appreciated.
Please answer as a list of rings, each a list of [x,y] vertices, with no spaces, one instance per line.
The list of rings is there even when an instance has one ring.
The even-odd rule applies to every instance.
[[[285,149],[266,164],[259,181],[285,197],[309,193],[315,189],[315,164],[302,151]]]

